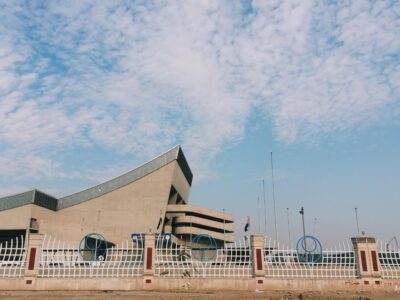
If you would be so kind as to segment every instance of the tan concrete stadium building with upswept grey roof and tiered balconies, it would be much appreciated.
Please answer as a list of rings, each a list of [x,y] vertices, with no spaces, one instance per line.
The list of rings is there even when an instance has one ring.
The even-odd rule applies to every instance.
[[[117,178],[56,198],[39,190],[0,198],[0,243],[39,232],[79,243],[98,232],[111,243],[170,233],[177,243],[208,234],[233,242],[233,216],[188,204],[193,175],[178,145]],[[158,228],[158,229],[157,229]]]

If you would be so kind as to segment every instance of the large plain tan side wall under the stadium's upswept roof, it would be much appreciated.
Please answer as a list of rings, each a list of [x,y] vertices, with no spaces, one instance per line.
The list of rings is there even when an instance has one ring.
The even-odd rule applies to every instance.
[[[132,233],[156,231],[165,213],[176,161],[122,188],[57,212],[35,206],[40,233],[78,243],[90,232],[120,243]]]

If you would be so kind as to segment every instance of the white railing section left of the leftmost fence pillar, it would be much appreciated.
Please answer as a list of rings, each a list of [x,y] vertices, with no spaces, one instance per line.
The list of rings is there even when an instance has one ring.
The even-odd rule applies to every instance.
[[[26,263],[24,237],[0,244],[0,277],[23,277]]]

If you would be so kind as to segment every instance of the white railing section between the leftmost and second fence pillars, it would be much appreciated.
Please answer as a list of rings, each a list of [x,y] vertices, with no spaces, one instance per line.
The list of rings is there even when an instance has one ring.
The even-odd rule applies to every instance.
[[[85,260],[78,246],[51,237],[43,240],[39,277],[134,277],[143,274],[143,240],[128,240],[104,250],[100,260]]]

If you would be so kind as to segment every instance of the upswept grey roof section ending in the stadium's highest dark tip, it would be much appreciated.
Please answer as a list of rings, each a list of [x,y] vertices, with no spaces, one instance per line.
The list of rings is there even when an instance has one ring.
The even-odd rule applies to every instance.
[[[58,200],[57,210],[64,209],[79,203],[97,198],[104,194],[110,193],[116,189],[119,189],[127,184],[130,184],[144,176],[166,166],[170,162],[177,160],[179,166],[181,167],[186,180],[189,185],[192,184],[193,175],[183,155],[180,145],[168,150],[167,152],[157,156],[156,158],[148,161],[147,163],[129,171],[123,175],[120,175],[109,181],[100,183],[96,186],[88,188],[86,190],[74,193],[72,195],[60,198]]]

